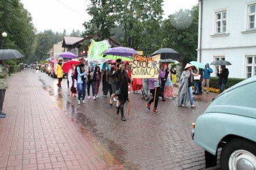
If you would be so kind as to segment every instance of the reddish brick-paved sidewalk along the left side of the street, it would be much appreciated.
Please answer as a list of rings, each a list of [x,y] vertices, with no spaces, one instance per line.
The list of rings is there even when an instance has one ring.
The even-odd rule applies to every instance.
[[[32,71],[12,75],[0,119],[0,169],[125,169],[70,121]]]

